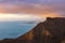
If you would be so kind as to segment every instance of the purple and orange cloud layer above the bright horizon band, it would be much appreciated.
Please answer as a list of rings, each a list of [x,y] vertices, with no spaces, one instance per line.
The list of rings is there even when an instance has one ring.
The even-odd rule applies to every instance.
[[[57,14],[65,16],[64,2],[64,0],[36,0],[36,2],[35,0],[6,0],[0,3],[0,13]]]

